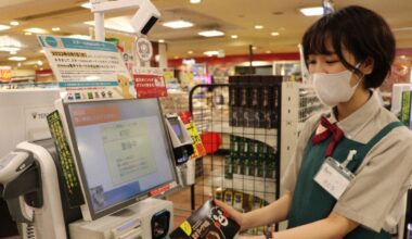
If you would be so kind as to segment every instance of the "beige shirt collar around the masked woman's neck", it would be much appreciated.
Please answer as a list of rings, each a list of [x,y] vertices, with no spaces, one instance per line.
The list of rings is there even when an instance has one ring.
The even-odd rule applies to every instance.
[[[355,137],[356,134],[364,128],[364,126],[375,117],[379,111],[379,104],[374,96],[371,96],[369,100],[357,111],[351,113],[349,116],[343,121],[337,122],[336,118],[336,108],[332,109],[330,121],[331,123],[337,122],[337,126],[344,130],[345,136]]]

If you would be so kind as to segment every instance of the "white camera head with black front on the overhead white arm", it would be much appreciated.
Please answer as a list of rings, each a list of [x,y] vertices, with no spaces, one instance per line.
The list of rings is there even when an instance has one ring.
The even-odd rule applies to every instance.
[[[160,17],[160,13],[149,0],[143,0],[140,9],[131,18],[131,26],[136,33],[147,35],[149,30],[154,26],[157,20]]]

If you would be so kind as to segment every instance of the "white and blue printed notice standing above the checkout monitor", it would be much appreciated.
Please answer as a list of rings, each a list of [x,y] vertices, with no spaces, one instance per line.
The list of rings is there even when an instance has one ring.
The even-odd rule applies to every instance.
[[[123,55],[111,42],[38,36],[65,101],[136,98]]]

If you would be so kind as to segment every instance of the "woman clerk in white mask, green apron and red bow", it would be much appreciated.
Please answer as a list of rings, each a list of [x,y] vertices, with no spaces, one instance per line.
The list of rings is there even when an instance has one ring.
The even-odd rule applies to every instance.
[[[286,230],[252,238],[389,239],[404,213],[412,136],[371,89],[388,75],[394,35],[376,13],[347,7],[316,22],[302,46],[317,95],[331,112],[305,123],[279,200],[246,214],[217,203],[243,229],[288,221]]]

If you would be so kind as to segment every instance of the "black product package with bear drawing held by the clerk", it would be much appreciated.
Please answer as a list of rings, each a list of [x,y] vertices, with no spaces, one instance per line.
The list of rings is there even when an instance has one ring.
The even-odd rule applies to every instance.
[[[170,239],[232,239],[240,229],[228,212],[208,200],[170,234]]]

